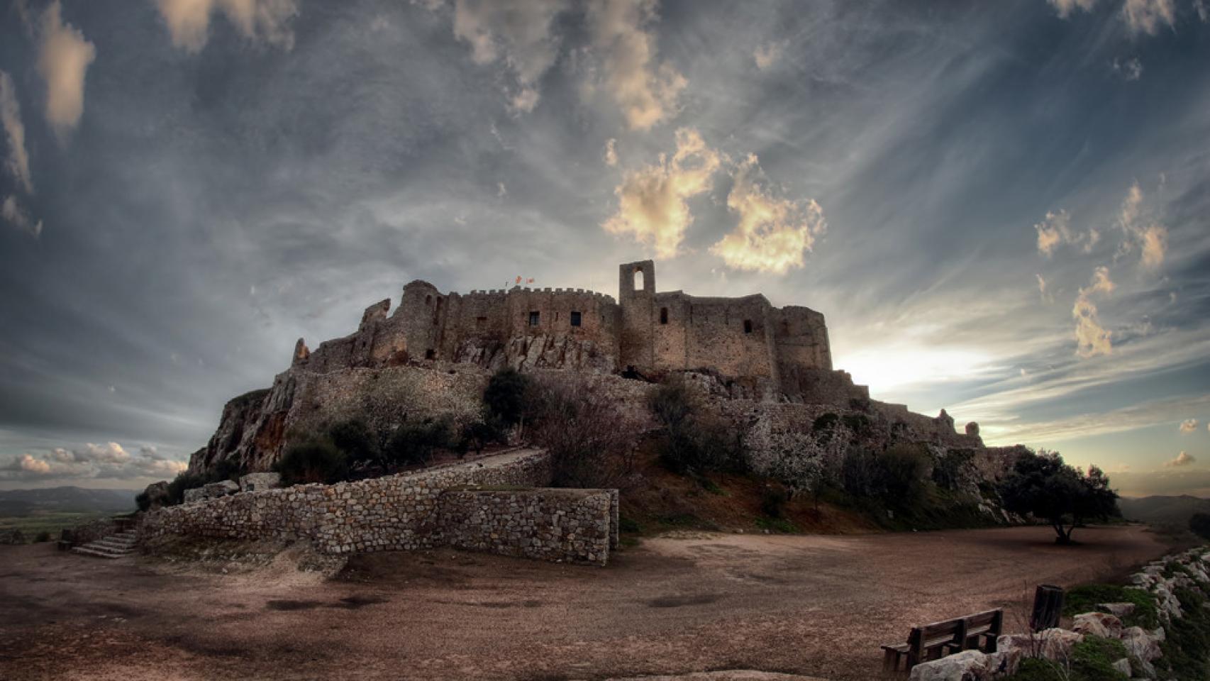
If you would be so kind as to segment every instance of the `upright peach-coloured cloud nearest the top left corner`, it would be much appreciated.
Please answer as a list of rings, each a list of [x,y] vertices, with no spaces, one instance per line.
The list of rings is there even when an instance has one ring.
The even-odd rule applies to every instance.
[[[83,114],[83,80],[97,48],[71,24],[64,24],[58,0],[42,13],[38,71],[46,81],[46,120],[60,135]]]

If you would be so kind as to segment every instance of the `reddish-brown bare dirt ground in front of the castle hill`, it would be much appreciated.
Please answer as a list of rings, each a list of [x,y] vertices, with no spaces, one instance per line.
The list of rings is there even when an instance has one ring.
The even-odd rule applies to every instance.
[[[223,575],[52,544],[0,547],[0,679],[607,679],[759,669],[877,677],[912,624],[1007,607],[1038,583],[1124,576],[1145,527],[864,536],[685,533],[609,567],[436,550],[336,578]]]

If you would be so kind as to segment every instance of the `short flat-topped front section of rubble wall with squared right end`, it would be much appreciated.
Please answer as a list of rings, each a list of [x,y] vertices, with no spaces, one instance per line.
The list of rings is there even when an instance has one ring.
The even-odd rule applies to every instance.
[[[445,544],[499,555],[605,565],[616,490],[450,490],[438,500]]]

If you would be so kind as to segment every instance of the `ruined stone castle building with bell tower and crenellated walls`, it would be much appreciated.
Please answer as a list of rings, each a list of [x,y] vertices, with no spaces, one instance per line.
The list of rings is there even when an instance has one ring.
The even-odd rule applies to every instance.
[[[832,371],[824,316],[773,307],[760,294],[698,298],[656,290],[651,260],[620,267],[618,299],[583,289],[472,290],[443,294],[414,281],[365,310],[356,334],[311,352],[300,339],[294,367],[329,371],[416,360],[486,369],[563,368],[658,377],[709,371],[761,396],[791,399],[820,385],[869,397]]]

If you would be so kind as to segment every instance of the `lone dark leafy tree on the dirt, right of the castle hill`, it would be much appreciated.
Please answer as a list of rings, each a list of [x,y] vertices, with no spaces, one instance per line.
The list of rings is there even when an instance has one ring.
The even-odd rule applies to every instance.
[[[1028,454],[1016,461],[1001,483],[1004,507],[1014,513],[1032,513],[1054,527],[1060,544],[1072,543],[1071,533],[1088,520],[1117,513],[1118,495],[1110,479],[1095,467],[1088,474],[1064,463],[1058,452]]]

